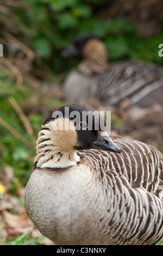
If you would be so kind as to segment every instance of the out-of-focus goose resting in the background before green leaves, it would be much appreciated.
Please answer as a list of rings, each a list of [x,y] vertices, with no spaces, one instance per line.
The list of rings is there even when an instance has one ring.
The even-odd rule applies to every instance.
[[[63,90],[68,100],[82,102],[90,95],[104,105],[120,107],[163,104],[163,69],[155,64],[122,61],[109,66],[108,51],[93,35],[78,36],[62,57],[82,56],[83,61],[67,76]]]

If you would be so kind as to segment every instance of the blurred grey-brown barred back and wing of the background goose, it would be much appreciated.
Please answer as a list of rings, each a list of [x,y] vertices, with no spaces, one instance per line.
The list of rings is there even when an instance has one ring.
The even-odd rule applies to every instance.
[[[163,105],[163,69],[142,62],[120,62],[92,77],[90,92],[105,105],[119,107],[125,99],[132,106]],[[104,92],[105,90],[105,92]]]

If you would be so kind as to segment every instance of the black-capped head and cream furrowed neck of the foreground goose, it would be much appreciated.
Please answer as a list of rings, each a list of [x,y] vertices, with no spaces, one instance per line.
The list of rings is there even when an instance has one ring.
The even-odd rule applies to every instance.
[[[67,168],[77,165],[77,150],[102,149],[121,153],[106,133],[103,117],[80,104],[63,106],[42,125],[36,142],[35,165],[39,168]]]

